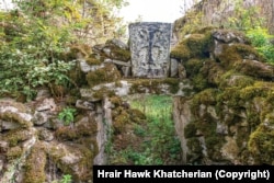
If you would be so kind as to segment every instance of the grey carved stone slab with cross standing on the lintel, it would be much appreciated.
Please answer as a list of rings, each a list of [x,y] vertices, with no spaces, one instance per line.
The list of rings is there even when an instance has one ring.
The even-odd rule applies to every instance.
[[[134,77],[168,77],[170,67],[170,23],[133,23],[129,25],[129,39]]]

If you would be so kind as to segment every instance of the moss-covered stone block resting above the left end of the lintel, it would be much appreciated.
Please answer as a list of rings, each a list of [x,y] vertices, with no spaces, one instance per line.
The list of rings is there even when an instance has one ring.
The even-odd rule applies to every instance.
[[[90,87],[96,84],[113,82],[121,79],[121,73],[113,64],[105,64],[105,67],[95,71],[90,71],[85,77]]]

